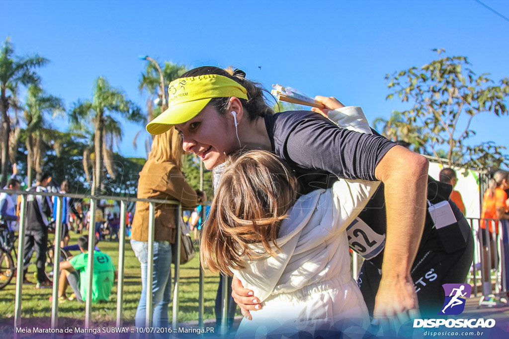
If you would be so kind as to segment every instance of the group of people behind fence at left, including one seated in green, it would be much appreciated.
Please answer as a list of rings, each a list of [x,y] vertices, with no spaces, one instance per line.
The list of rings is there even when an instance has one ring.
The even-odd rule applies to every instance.
[[[22,178],[18,175],[16,165],[13,165],[12,177],[8,180],[4,189],[12,191],[26,190],[34,193],[72,193],[68,179],[64,179],[59,184],[49,173],[46,172],[38,172],[35,176],[35,184],[27,188],[26,184],[23,183]],[[68,286],[73,288],[73,293],[69,297],[70,300],[83,301],[86,296],[83,294],[83,291],[86,291],[86,287],[84,287],[85,282],[81,284],[80,282],[83,281],[83,273],[87,271],[87,267],[85,265],[86,259],[83,259],[87,256],[87,236],[80,237],[77,244],[69,244],[70,231],[80,234],[89,230],[91,213],[90,210],[87,212],[83,211],[83,207],[86,206],[85,202],[86,201],[83,199],[71,197],[62,198],[61,248],[69,254],[70,251],[79,250],[81,254],[84,255],[74,257],[69,256],[67,258],[68,260],[60,262],[60,268],[62,270],[62,274],[60,276],[61,285],[59,287],[60,302],[64,301],[64,299],[67,300],[66,288]],[[46,266],[52,265],[52,262],[55,259],[48,258],[47,256],[53,256],[53,252],[48,251],[48,235],[49,233],[53,233],[56,229],[55,222],[57,219],[57,204],[58,198],[56,196],[43,196],[36,194],[26,195],[26,209],[24,213],[26,226],[23,238],[23,285],[33,285],[35,283],[36,289],[44,289],[52,286],[45,269]],[[109,206],[104,206],[103,204],[96,210],[96,227],[93,227],[92,230],[96,231],[95,235],[97,241],[103,240],[107,235],[109,235],[109,241],[119,241],[119,213],[111,211],[111,209],[108,210],[108,207]],[[5,228],[0,230],[2,232],[3,244],[5,244],[8,240],[14,241],[15,239],[14,232],[17,232],[19,229],[19,220],[21,215],[20,209],[21,195],[5,192],[0,194],[0,222],[3,226],[5,225]],[[126,230],[130,229],[132,214],[132,211],[128,211],[126,213]],[[52,245],[54,245],[54,242]],[[94,259],[96,261],[98,260],[98,263],[94,265],[93,272],[93,302],[100,300],[107,301],[114,281],[113,273],[115,268],[107,254],[100,253],[97,246],[96,251],[98,251],[98,254],[97,258],[94,256]],[[36,271],[34,272],[35,282],[33,282],[27,274],[32,263],[34,253],[36,263]],[[81,259],[78,261],[79,258]],[[60,259],[62,260],[63,258]],[[110,268],[112,267],[112,269],[106,270],[103,263],[109,263],[109,265],[111,265]],[[108,275],[105,280],[102,275],[106,271],[110,272],[111,274],[108,274],[111,276]],[[81,274],[78,274],[79,272],[81,272]],[[5,272],[0,272],[0,279],[7,279]],[[109,283],[105,284],[105,281],[108,281]]]

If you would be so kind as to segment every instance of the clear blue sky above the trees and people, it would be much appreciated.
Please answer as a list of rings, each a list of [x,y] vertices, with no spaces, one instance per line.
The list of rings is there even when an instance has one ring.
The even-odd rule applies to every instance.
[[[483,3],[509,17],[509,2]],[[509,76],[509,21],[474,0],[19,1],[0,8],[0,38],[10,36],[19,55],[50,59],[40,70],[43,88],[68,107],[91,98],[94,79],[104,76],[144,108],[140,54],[190,68],[232,65],[267,88],[279,83],[362,106],[370,121],[409,107],[385,100],[384,76],[428,63],[437,57],[433,48],[468,56],[476,73],[496,81]],[[508,122],[477,118],[472,141],[509,147]],[[122,155],[144,156],[141,142],[132,146],[143,127],[123,125]]]

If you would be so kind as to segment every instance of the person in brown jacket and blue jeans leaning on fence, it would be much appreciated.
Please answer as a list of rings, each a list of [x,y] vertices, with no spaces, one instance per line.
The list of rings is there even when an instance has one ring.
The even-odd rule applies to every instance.
[[[203,192],[194,191],[180,168],[182,139],[175,129],[157,135],[152,142],[149,159],[139,173],[138,198],[179,200],[182,207],[194,208],[206,200]],[[156,204],[154,267],[152,276],[153,327],[168,326],[168,303],[172,290],[172,246],[176,225],[174,204]],[[142,295],[136,310],[136,327],[145,327],[147,301],[147,256],[149,203],[137,202],[131,228],[131,246],[142,268]]]

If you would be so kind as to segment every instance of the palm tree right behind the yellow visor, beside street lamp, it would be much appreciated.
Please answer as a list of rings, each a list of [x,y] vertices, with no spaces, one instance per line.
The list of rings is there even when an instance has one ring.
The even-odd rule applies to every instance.
[[[171,63],[169,61],[164,61],[164,67],[162,67],[162,75],[164,78],[164,96],[167,97],[166,88],[168,88],[168,85],[173,80],[180,77],[182,74],[187,72],[187,66],[185,65],[178,65]],[[138,80],[138,89],[141,94],[144,93],[144,91],[147,91],[149,94],[149,97],[147,99],[147,118],[146,123],[152,121],[153,118],[161,114],[161,107],[156,106],[154,108],[153,103],[156,102],[157,105],[162,103],[162,96],[163,93],[161,93],[161,81],[159,77],[159,71],[157,70],[157,67],[153,63],[147,63],[147,68],[144,73],[140,75],[140,78]],[[167,100],[165,100],[167,102]],[[134,139],[132,141],[134,149],[136,149],[136,141],[138,136],[143,133],[145,129],[140,130],[136,135],[134,136]],[[145,140],[145,151],[148,153],[150,152],[150,142],[152,140],[151,138],[147,138]]]

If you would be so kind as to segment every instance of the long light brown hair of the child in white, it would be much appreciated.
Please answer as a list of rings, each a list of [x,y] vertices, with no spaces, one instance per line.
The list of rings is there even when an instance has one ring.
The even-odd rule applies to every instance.
[[[297,180],[271,152],[248,151],[227,160],[202,234],[200,259],[213,271],[244,268],[256,257],[248,244],[261,242],[270,255],[281,222],[297,195]],[[259,256],[259,254],[258,254]]]

